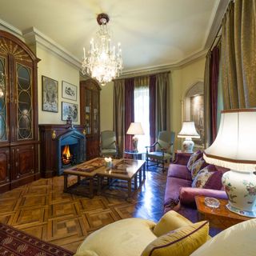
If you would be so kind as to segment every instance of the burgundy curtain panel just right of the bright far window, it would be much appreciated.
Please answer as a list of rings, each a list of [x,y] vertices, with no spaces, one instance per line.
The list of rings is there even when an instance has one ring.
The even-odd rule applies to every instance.
[[[156,117],[155,117],[155,97],[156,97],[156,77],[155,75],[150,75],[150,145],[154,144],[155,142],[155,123],[156,123]]]

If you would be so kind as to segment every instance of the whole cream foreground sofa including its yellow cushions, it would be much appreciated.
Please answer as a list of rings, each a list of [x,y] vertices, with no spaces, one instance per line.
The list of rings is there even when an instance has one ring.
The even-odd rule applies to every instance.
[[[254,256],[256,218],[208,236],[208,222],[191,223],[175,211],[158,223],[126,218],[90,234],[74,256]]]

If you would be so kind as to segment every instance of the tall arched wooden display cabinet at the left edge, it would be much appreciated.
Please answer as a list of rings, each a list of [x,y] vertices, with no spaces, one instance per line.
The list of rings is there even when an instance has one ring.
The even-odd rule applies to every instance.
[[[24,42],[0,30],[0,192],[40,177],[38,61]]]

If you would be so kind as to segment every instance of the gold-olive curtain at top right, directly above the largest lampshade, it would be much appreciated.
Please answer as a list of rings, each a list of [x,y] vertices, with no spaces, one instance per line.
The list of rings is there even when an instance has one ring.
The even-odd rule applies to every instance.
[[[224,109],[256,106],[256,0],[230,2],[222,21]]]

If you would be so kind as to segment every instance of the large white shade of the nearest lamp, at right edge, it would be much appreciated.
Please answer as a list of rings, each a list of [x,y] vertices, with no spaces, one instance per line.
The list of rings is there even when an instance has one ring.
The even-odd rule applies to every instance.
[[[231,170],[255,171],[256,109],[222,111],[217,138],[204,158]]]

